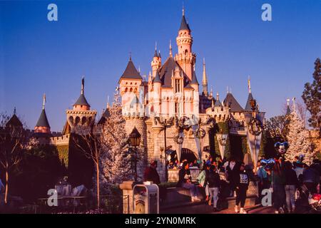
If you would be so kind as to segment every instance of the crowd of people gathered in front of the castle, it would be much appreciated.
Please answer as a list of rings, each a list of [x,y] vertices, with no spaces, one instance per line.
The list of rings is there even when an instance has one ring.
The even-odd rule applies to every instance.
[[[264,196],[263,190],[272,192],[276,214],[297,212],[296,205],[304,207],[309,194],[317,193],[317,186],[321,184],[320,160],[313,160],[309,166],[305,164],[303,156],[296,157],[295,162],[286,161],[282,157],[270,160],[261,157],[255,169],[233,158],[221,160],[220,157],[209,157],[203,160],[197,180],[192,180],[190,167],[200,167],[198,161],[185,160],[177,164],[177,186],[190,190],[192,202],[200,202],[200,194],[205,192],[205,201],[213,206],[215,212],[220,210],[220,199],[235,197],[235,212],[246,214],[244,207],[250,181],[258,186],[259,199]],[[147,173],[158,176],[155,174],[155,164],[151,167],[154,170]],[[148,178],[152,179],[146,175],[145,180]],[[157,182],[160,182],[159,176],[157,178]]]

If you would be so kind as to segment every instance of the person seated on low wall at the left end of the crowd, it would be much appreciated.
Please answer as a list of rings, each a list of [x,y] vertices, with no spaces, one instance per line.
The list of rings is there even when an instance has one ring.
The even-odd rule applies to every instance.
[[[192,176],[190,175],[190,167],[188,162],[183,162],[183,167],[178,172],[178,187],[183,187],[190,190],[190,198],[192,202],[200,202],[198,199],[198,187],[192,183]]]

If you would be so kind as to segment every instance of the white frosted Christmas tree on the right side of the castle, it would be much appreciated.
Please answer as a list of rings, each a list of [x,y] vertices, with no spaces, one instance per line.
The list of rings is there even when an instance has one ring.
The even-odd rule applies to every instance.
[[[295,156],[304,155],[304,162],[307,165],[312,163],[313,158],[315,158],[315,152],[313,151],[313,143],[309,139],[308,131],[305,129],[304,120],[300,118],[295,109],[295,99],[293,99],[293,108],[289,117],[287,141],[290,144],[285,158],[293,162]]]

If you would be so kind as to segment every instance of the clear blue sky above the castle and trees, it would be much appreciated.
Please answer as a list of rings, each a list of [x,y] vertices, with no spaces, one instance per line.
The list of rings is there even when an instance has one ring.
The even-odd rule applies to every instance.
[[[58,5],[58,21],[47,6]],[[155,41],[163,61],[168,42],[177,52],[182,0],[178,1],[0,1],[0,112],[17,113],[34,128],[46,92],[51,130],[61,130],[86,76],[93,109],[106,107],[131,51],[142,74],[151,69]],[[261,6],[272,5],[272,21]],[[185,0],[192,30],[196,73],[205,57],[209,85],[221,99],[226,86],[245,105],[252,91],[267,117],[282,112],[287,97],[300,97],[321,57],[320,0]]]

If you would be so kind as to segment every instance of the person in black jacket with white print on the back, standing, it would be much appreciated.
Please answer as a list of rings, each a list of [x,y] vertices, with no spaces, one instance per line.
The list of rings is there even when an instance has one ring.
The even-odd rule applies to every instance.
[[[245,172],[245,163],[242,162],[238,171],[238,181],[236,182],[235,213],[238,213],[238,205],[240,204],[240,214],[247,214],[244,206],[249,184],[250,177]]]

